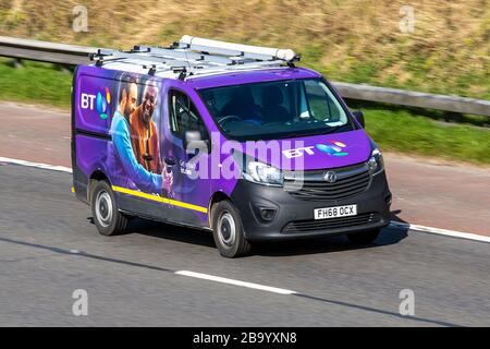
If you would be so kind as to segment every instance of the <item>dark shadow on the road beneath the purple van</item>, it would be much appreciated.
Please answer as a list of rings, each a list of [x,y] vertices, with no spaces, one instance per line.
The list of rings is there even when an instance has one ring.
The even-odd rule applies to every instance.
[[[403,222],[403,220],[396,217],[400,213],[400,210],[392,212],[391,219]],[[93,221],[91,217],[88,217],[87,219]],[[372,249],[399,243],[407,237],[407,230],[408,228],[387,227],[381,230],[378,239],[370,244],[354,244],[350,242],[345,236],[331,236],[292,241],[256,242],[254,243],[250,255],[289,256]],[[130,227],[125,234],[127,233],[139,233],[159,239],[168,239],[216,249],[210,231],[173,226],[143,218],[133,219],[130,222]]]

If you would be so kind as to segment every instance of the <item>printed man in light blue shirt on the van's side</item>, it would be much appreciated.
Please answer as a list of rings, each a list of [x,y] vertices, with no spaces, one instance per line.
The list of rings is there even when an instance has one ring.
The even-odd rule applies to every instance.
[[[171,178],[163,180],[162,174],[146,170],[133,153],[128,118],[137,100],[135,80],[121,83],[121,99],[111,121],[112,142],[108,146],[108,167],[118,181],[118,185],[133,189],[136,186],[146,193],[161,195],[162,190],[172,185]]]

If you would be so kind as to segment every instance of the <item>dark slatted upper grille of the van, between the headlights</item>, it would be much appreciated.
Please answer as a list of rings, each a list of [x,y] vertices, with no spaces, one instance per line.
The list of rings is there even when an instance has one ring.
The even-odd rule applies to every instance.
[[[333,183],[324,179],[324,174],[329,171],[336,176]],[[297,182],[298,179],[301,179],[299,182]],[[362,164],[347,168],[305,171],[301,177],[285,177],[284,190],[301,200],[334,201],[364,192],[369,186],[370,180],[367,165]],[[295,181],[303,184],[297,185]]]

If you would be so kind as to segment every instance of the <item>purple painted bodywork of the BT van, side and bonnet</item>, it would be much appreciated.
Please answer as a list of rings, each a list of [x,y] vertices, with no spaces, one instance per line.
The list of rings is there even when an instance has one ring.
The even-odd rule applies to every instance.
[[[83,130],[85,132],[93,132],[107,136],[110,135],[111,121],[119,105],[120,80],[123,74],[127,73],[97,67],[79,67],[75,80],[76,95],[74,96],[74,127],[76,130]],[[143,80],[148,79],[148,75],[133,75],[143,77]],[[154,121],[157,123],[158,130],[160,130],[160,154],[162,158],[173,157],[177,159],[177,164],[172,168],[174,183],[169,198],[208,208],[211,196],[215,193],[222,192],[225,195],[231,196],[237,182],[237,179],[213,178],[216,176],[209,176],[211,177],[210,179],[195,180],[188,178],[188,176],[183,172],[189,158],[184,151],[182,140],[175,136],[170,130],[168,117],[168,96],[170,89],[179,89],[187,94],[199,111],[210,134],[216,135],[219,130],[206,106],[198,96],[196,89],[253,82],[319,76],[321,75],[308,69],[291,68],[246,72],[237,71],[234,73],[192,77],[185,82],[152,77],[159,88],[159,100],[156,113],[154,116]],[[84,94],[85,97],[82,97],[82,94]],[[100,97],[98,97],[99,95]],[[87,96],[96,97],[88,97],[87,99]],[[86,178],[90,178],[95,171],[100,170],[108,177],[112,185],[138,190],[130,178],[115,174],[118,171],[114,169],[115,165],[111,160],[110,155],[112,141],[100,137],[90,137],[84,134],[77,134],[75,139],[76,164]],[[211,161],[211,157],[215,152],[220,151],[219,144],[224,144],[226,139],[219,134],[218,140],[215,139],[213,141],[218,142],[212,143],[211,154],[197,155],[203,157],[204,161],[201,161],[201,164],[207,164],[209,172],[211,173],[212,171],[219,170],[218,168],[211,168],[213,164]],[[275,142],[279,144],[281,157],[274,158],[270,154],[259,154],[257,155],[258,159],[283,170],[314,170],[348,166],[366,161],[371,152],[369,137],[364,130],[309,137],[277,140],[270,142]],[[343,145],[342,152],[336,152],[342,153],[341,156],[339,156],[339,154],[335,155],[324,153],[322,151],[322,145],[334,145],[334,142]],[[296,147],[309,147],[309,152],[314,154],[303,152],[304,154],[301,156],[302,160],[296,163],[294,159],[287,159],[283,154],[283,151]],[[245,149],[246,146],[243,146],[243,148]],[[252,156],[256,155],[252,153],[247,154]],[[219,156],[220,164],[223,164],[226,158],[230,157],[230,155],[221,154],[221,152],[219,152],[219,155],[217,156]],[[118,193],[118,195],[124,194]],[[169,207],[168,204],[158,202],[155,202],[155,205],[166,205],[166,207]],[[188,208],[179,206],[175,206],[175,209],[189,210]],[[208,214],[198,210],[189,212],[192,212],[192,214],[201,221],[203,226],[208,224]]]

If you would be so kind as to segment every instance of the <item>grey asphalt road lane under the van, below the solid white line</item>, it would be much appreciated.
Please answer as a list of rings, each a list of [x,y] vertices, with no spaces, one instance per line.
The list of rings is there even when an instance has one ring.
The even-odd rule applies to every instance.
[[[485,242],[387,228],[368,246],[336,237],[225,260],[210,233],[162,224],[135,220],[102,237],[71,185],[70,173],[0,166],[1,326],[490,325]],[[86,316],[72,313],[76,289],[87,291]],[[399,312],[404,289],[414,316]]]

